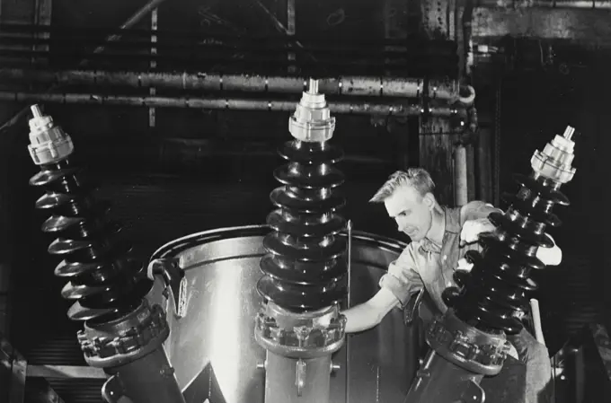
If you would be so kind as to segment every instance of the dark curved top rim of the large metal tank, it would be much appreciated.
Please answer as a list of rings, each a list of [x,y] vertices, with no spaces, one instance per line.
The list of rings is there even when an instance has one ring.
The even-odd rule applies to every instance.
[[[181,238],[175,239],[165,243],[162,247],[155,250],[151,255],[150,260],[155,258],[167,258],[169,256],[175,256],[184,250],[197,247],[198,245],[223,241],[235,238],[246,238],[253,236],[265,236],[271,228],[267,224],[259,225],[243,225],[236,227],[222,227],[215,228],[213,230],[195,232],[190,235],[185,235]],[[341,236],[348,236],[347,231],[341,232]],[[363,231],[352,231],[352,241],[359,241],[359,243],[370,244],[378,249],[388,250],[391,252],[399,253],[403,252],[408,243],[398,241],[393,238],[388,238],[383,235],[377,235],[371,232]],[[261,254],[262,256],[262,254]]]

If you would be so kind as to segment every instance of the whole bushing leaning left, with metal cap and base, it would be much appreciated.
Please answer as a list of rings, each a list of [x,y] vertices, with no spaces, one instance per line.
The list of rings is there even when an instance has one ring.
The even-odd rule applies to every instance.
[[[70,136],[38,105],[31,111],[29,150],[40,172],[30,183],[46,189],[36,207],[51,214],[42,231],[58,237],[49,253],[64,258],[55,274],[69,280],[62,296],[76,301],[68,316],[84,320],[77,336],[84,359],[111,375],[104,399],[183,402],[163,348],[170,332],[165,313],[145,298],[152,282],[117,237],[120,225],[105,219],[109,206],[92,196],[93,182],[71,164]]]

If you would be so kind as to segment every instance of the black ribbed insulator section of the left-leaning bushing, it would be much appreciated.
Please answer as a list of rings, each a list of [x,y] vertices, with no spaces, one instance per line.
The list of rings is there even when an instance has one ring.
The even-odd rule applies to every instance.
[[[140,267],[128,258],[131,245],[117,241],[121,226],[105,219],[110,204],[93,198],[83,171],[65,159],[41,165],[30,184],[46,189],[36,208],[51,214],[42,231],[58,237],[49,253],[64,258],[55,275],[69,280],[62,296],[77,301],[70,319],[106,321],[136,309],[151,283],[137,281]]]

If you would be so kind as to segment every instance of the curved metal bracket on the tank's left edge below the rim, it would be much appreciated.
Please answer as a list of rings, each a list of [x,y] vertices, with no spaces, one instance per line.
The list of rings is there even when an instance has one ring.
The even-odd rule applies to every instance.
[[[155,258],[148,264],[146,275],[151,280],[155,276],[161,276],[164,280],[165,298],[169,298],[168,293],[172,293],[174,311],[179,318],[184,317],[187,308],[187,278],[184,270],[176,258]]]

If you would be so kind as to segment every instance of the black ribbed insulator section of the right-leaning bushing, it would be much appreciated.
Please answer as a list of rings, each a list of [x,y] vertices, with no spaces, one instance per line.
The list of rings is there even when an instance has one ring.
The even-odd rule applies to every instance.
[[[530,273],[545,267],[536,258],[536,250],[553,246],[545,233],[547,226],[561,223],[552,213],[553,206],[569,205],[559,190],[560,182],[534,172],[529,177],[517,175],[516,180],[518,194],[504,195],[510,203],[508,210],[489,217],[496,231],[480,235],[483,252],[465,255],[473,268],[469,273],[456,272],[456,284],[462,288],[444,292],[447,305],[454,308],[458,318],[477,329],[508,335],[524,328],[520,319],[528,310],[530,293],[537,288]]]

